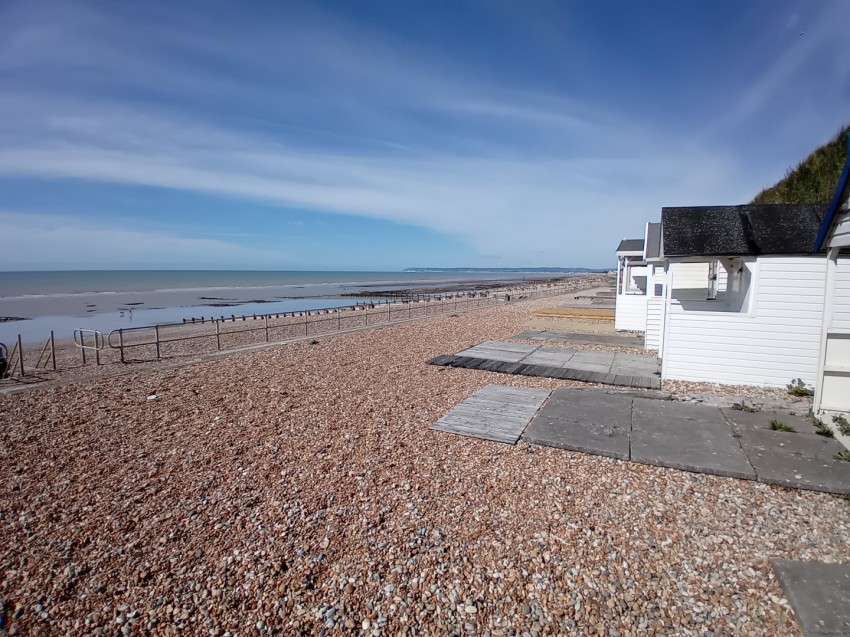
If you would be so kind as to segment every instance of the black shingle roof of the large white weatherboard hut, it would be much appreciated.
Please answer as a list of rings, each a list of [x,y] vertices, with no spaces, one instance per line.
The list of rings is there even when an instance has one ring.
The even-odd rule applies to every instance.
[[[664,256],[810,254],[821,204],[662,208]]]

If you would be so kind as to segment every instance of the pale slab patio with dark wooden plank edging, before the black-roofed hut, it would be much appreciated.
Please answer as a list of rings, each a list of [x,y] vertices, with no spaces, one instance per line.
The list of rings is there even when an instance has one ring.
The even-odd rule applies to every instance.
[[[431,365],[485,369],[504,374],[546,376],[587,383],[659,389],[655,356],[593,352],[507,341],[484,341],[454,356],[437,356]]]

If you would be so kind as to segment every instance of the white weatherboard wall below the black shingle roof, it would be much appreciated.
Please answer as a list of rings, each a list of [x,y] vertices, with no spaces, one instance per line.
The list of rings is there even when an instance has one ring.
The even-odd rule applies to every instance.
[[[674,288],[679,265],[671,264]],[[704,305],[686,309],[682,302],[670,299],[664,378],[773,387],[802,378],[814,385],[826,259],[822,255],[766,256],[748,267],[752,280],[743,312],[711,311]]]

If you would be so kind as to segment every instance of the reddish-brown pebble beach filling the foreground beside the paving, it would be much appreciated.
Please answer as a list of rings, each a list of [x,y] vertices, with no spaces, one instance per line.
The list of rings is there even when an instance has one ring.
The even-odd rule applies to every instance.
[[[800,635],[847,502],[429,428],[551,304],[0,397],[9,633]]]

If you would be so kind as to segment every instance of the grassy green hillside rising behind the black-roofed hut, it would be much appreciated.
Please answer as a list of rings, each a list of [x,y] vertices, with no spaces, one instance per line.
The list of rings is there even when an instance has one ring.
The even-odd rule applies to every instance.
[[[752,203],[829,203],[847,160],[848,131],[850,125],[789,169],[782,181],[762,190]]]

